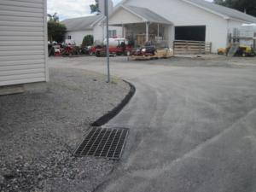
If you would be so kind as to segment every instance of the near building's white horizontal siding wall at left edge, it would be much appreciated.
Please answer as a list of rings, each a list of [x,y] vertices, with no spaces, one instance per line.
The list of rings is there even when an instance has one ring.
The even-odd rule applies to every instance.
[[[49,81],[46,0],[0,0],[0,86]]]

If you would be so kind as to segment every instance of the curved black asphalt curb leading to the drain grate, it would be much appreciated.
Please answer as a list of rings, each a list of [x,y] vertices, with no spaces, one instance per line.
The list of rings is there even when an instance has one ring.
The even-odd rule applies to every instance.
[[[135,94],[136,88],[133,84],[123,80],[126,84],[129,84],[131,89],[129,91],[129,93],[127,94],[127,96],[125,96],[125,99],[122,100],[122,102],[116,107],[113,108],[113,110],[111,112],[108,112],[106,114],[104,114],[101,118],[96,119],[96,121],[94,121],[92,124],[90,124],[91,126],[102,126],[106,123],[108,123],[108,121],[110,119],[113,119],[123,108],[125,108],[125,105],[130,102],[131,97]]]

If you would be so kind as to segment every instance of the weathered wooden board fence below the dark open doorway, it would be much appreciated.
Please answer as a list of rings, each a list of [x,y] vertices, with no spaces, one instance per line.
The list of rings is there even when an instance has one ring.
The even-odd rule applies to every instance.
[[[173,41],[174,55],[207,54],[212,52],[212,43],[199,41]]]

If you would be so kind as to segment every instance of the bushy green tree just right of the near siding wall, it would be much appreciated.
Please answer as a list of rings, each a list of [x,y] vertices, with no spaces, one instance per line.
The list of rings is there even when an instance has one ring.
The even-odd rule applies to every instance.
[[[48,26],[48,37],[49,38],[52,38],[56,42],[63,41],[63,38],[65,36],[65,30],[67,29],[65,24],[61,24],[59,22],[49,20],[47,22],[47,26]]]

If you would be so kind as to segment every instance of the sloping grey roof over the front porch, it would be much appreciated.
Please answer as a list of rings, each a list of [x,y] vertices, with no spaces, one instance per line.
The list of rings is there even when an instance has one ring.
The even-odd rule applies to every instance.
[[[131,11],[131,13],[141,17],[143,19],[143,21],[153,21],[153,22],[157,22],[157,23],[166,23],[166,24],[172,24],[172,22],[170,20],[166,20],[166,18],[157,15],[156,13],[154,13],[153,11],[146,9],[146,8],[141,8],[141,7],[135,7],[135,6],[131,6],[131,5],[120,5],[120,7],[123,7],[129,11]]]

